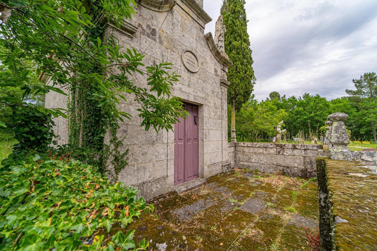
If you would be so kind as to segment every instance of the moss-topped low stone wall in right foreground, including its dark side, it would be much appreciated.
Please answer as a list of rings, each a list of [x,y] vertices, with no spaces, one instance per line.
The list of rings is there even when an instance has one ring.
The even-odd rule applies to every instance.
[[[317,158],[320,250],[375,250],[377,173],[358,161]]]

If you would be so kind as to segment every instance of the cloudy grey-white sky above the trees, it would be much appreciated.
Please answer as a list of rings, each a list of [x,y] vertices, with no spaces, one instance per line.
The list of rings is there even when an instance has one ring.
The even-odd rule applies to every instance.
[[[214,33],[221,0],[204,0]],[[259,100],[305,92],[346,96],[352,79],[377,71],[377,0],[246,0]]]

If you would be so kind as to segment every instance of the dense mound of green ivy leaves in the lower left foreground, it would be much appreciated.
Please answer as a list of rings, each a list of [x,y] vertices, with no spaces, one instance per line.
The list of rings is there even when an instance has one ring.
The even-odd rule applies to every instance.
[[[150,213],[137,190],[112,184],[88,164],[71,159],[41,159],[39,155],[0,169],[0,249],[113,250],[134,249],[133,231],[119,231],[101,247],[115,222],[123,227]],[[139,244],[146,248],[148,242]]]

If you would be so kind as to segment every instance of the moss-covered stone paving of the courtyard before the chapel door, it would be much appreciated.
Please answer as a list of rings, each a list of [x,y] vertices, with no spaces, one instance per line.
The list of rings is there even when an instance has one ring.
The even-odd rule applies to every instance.
[[[152,200],[164,223],[209,250],[310,250],[318,241],[316,182],[236,169]]]

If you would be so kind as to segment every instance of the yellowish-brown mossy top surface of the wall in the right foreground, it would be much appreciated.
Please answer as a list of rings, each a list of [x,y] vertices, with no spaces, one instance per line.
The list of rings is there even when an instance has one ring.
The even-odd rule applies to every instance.
[[[325,162],[332,219],[340,217],[348,221],[333,224],[336,249],[375,250],[377,175],[358,162],[331,159]]]

